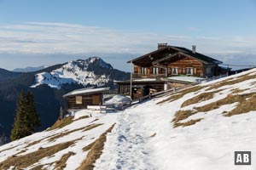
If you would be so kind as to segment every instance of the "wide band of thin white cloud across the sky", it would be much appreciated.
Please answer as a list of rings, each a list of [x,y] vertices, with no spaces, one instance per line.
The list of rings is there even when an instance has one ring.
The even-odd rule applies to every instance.
[[[256,54],[256,37],[188,37],[47,22],[0,25],[0,53],[143,54],[157,42],[187,48],[195,44],[207,54]]]

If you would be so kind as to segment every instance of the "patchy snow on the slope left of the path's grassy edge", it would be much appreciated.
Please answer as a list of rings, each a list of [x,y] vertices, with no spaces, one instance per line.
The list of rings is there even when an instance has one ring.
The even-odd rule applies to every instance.
[[[64,169],[78,168],[89,151],[83,151],[83,148],[98,139],[116,120],[115,114],[91,114],[89,118],[83,118],[83,116],[90,116],[90,113],[87,111],[78,111],[73,119],[73,123],[65,127],[34,133],[26,138],[4,144],[0,147],[0,167],[3,166],[1,162],[8,159],[9,156],[27,156],[32,152],[42,150],[42,148],[48,148],[50,146],[57,148],[58,144],[74,141],[72,145],[64,150],[58,150],[54,155],[45,156],[32,165],[27,166],[26,169],[32,169],[40,165],[44,165],[43,167],[46,169],[56,169],[56,162],[61,160],[61,156],[69,152],[73,152],[73,155],[67,159],[67,166]],[[84,131],[86,127],[98,124],[102,125]],[[61,133],[66,135],[59,136]]]

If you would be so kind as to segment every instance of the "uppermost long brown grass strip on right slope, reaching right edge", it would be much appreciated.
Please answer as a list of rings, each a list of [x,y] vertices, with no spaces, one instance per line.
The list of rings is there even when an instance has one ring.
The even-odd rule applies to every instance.
[[[236,84],[236,83],[239,83],[239,82],[244,82],[246,80],[256,78],[255,75],[249,75],[249,74],[250,73],[248,73],[246,75],[242,75],[240,77],[237,77],[234,80],[227,79],[224,82],[218,82],[218,83],[212,85],[210,88],[208,88],[208,90],[217,89],[217,88],[220,88],[220,87],[223,87],[223,86],[227,86],[227,85],[233,85],[233,84]]]

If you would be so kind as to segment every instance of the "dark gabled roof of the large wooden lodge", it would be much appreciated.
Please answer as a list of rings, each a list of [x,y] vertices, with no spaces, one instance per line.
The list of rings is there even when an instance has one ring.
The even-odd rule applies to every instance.
[[[140,56],[136,59],[132,59],[132,62],[135,62],[138,59],[143,59],[144,57],[151,56],[153,54],[160,53],[164,50],[169,50],[170,48],[176,50],[177,52],[181,52],[182,54],[189,55],[192,58],[198,59],[198,60],[200,60],[201,62],[203,62],[205,64],[222,64],[222,62],[219,61],[218,59],[212,59],[211,57],[208,57],[207,55],[200,54],[200,53],[193,53],[192,50],[190,50],[188,48],[182,48],[182,47],[176,47],[176,46],[170,46],[170,45],[168,45],[164,48],[157,49],[157,50],[155,50],[151,53],[144,54],[144,55],[142,55],[142,56]],[[131,62],[131,60],[128,61],[128,63],[130,63],[130,62]]]

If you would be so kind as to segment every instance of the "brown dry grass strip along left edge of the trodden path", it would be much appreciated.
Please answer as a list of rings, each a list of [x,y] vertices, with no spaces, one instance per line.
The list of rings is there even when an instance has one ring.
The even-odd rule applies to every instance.
[[[91,149],[88,155],[86,156],[86,158],[84,159],[80,167],[77,168],[78,170],[84,170],[84,169],[93,170],[94,168],[93,164],[102,155],[102,150],[104,149],[104,143],[107,140],[106,135],[107,133],[111,133],[113,127],[114,127],[114,124],[111,127],[109,127],[105,133],[102,133],[102,135],[98,139],[96,139],[96,142],[91,146]]]

